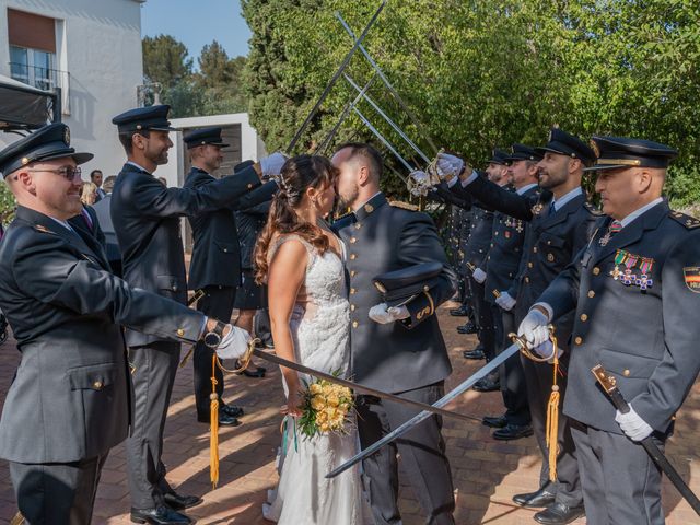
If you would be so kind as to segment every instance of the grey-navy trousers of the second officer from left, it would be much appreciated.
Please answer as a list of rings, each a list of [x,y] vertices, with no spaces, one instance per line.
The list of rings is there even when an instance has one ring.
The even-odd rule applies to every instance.
[[[165,480],[163,430],[179,362],[179,342],[155,341],[130,347],[129,361],[136,368],[133,424],[127,439],[127,479],[135,509],[153,509],[164,503],[173,489]]]

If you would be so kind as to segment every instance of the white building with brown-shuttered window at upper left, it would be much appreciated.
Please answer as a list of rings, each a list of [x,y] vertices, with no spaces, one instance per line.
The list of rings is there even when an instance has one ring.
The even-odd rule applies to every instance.
[[[83,179],[93,168],[116,175],[124,164],[112,117],[138,105],[144,1],[0,0],[0,74],[61,89],[71,145],[95,155]],[[0,148],[16,138],[0,133]]]

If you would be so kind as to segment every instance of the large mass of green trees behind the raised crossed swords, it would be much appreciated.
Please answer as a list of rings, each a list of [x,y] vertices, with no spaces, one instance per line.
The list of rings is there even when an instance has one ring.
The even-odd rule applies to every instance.
[[[352,46],[334,11],[359,35],[378,0],[242,7],[253,32],[244,71],[250,120],[268,149],[284,149]],[[378,79],[370,96],[429,156],[428,137],[480,165],[493,147],[540,144],[558,124],[581,137],[634,136],[677,148],[669,195],[674,203],[699,197],[697,0],[389,1],[364,46],[421,122]],[[372,69],[357,52],[348,72],[363,85]],[[295,152],[314,150],[355,94],[340,80]],[[359,107],[424,167],[366,103]],[[331,145],[351,137],[377,143],[354,115]],[[386,178],[388,187],[402,187],[395,174]]]

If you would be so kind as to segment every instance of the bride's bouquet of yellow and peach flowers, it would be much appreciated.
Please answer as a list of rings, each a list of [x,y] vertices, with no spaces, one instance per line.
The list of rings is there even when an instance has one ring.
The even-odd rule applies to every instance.
[[[346,386],[336,385],[327,380],[304,382],[302,416],[299,429],[306,438],[328,432],[348,433],[352,423],[350,410],[354,407],[352,392]]]

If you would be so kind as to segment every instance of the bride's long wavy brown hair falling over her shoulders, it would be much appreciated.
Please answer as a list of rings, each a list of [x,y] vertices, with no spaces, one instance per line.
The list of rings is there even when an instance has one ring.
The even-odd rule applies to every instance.
[[[267,223],[255,245],[255,280],[265,282],[268,272],[267,254],[270,242],[278,235],[295,234],[314,246],[320,254],[328,249],[328,237],[316,224],[299,217],[296,210],[302,206],[308,188],[323,191],[334,184],[338,170],[328,159],[319,155],[298,155],[289,159],[282,166],[279,178],[279,191],[272,198]]]

